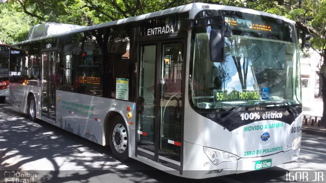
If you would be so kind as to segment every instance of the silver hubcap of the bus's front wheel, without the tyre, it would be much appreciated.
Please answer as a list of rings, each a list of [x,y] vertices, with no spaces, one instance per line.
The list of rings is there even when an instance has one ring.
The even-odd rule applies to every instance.
[[[113,129],[112,142],[118,153],[123,153],[126,150],[128,134],[123,125],[118,124]]]

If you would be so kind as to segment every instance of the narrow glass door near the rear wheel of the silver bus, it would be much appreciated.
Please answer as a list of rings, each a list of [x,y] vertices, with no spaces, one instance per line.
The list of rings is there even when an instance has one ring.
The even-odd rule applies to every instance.
[[[56,120],[55,52],[42,53],[42,116]]]

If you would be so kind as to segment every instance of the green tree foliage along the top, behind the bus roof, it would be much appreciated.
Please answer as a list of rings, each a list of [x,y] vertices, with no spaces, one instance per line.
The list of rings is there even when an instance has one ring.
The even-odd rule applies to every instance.
[[[13,0],[0,4],[2,20],[0,40],[5,43],[21,41],[26,36],[28,28],[36,23],[53,21],[94,25],[192,2],[193,0]],[[251,8],[285,16],[301,21],[314,28],[317,33],[325,35],[326,0],[302,0],[302,6],[292,0],[197,0],[196,2]],[[310,21],[307,21],[308,19]],[[12,34],[14,29],[16,33]],[[323,50],[325,39],[314,34],[313,40],[313,47],[316,50]]]

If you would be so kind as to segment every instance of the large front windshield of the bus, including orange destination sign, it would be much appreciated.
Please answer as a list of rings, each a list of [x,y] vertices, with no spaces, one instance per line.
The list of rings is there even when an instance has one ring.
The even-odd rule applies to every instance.
[[[280,19],[233,11],[222,14],[233,35],[224,38],[224,62],[210,60],[214,27],[193,29],[189,95],[200,110],[234,105],[301,104],[299,57],[294,26]],[[286,101],[286,102],[284,102]]]

